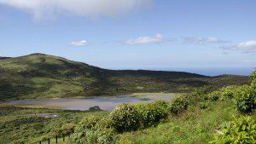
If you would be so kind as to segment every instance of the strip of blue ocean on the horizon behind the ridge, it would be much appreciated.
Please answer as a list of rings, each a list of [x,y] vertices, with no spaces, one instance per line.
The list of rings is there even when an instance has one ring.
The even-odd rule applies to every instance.
[[[162,69],[163,71],[177,71],[177,72],[192,72],[207,76],[218,76],[222,74],[234,74],[234,75],[249,75],[253,72],[254,68],[252,67],[189,67],[189,68],[170,68],[170,69]]]

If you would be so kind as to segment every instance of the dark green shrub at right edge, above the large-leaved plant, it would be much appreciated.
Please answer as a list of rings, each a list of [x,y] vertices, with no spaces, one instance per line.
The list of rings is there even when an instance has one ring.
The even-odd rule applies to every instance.
[[[235,94],[236,108],[239,112],[253,112],[256,109],[256,89],[253,86],[242,86]]]

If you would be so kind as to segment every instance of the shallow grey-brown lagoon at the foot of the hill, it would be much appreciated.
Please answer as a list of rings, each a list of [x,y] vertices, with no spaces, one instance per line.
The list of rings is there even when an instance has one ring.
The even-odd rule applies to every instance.
[[[90,107],[101,107],[102,110],[111,111],[123,103],[139,104],[156,100],[170,101],[172,94],[140,94],[140,95],[114,95],[104,97],[84,97],[74,99],[42,99],[42,100],[17,100],[7,104],[20,107],[45,107],[67,110],[88,110]]]

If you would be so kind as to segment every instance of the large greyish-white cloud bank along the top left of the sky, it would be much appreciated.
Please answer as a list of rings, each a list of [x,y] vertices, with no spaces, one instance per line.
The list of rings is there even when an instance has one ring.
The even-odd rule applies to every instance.
[[[147,8],[152,0],[0,0],[0,4],[25,10],[35,20],[47,20],[67,13],[89,18],[116,17],[135,9]]]

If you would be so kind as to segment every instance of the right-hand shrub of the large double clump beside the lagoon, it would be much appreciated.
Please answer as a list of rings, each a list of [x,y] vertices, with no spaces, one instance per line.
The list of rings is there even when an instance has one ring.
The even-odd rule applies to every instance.
[[[141,125],[146,127],[155,126],[160,119],[168,115],[168,101],[154,101],[149,104],[137,105]]]

